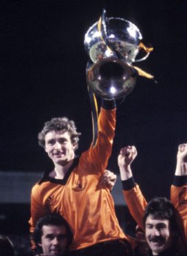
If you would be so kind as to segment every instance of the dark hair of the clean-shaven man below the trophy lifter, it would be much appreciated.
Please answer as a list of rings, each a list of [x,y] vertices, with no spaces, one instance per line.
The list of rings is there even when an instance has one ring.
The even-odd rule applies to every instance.
[[[34,240],[37,249],[40,248],[39,243],[41,243],[41,237],[43,235],[42,228],[44,225],[65,226],[67,230],[67,248],[69,248],[70,244],[72,244],[73,234],[71,229],[69,228],[69,225],[67,224],[67,221],[63,218],[62,215],[58,213],[51,213],[44,215],[38,220],[38,222],[36,223],[36,227],[34,228],[34,232],[32,233],[32,239]]]

